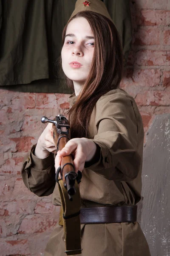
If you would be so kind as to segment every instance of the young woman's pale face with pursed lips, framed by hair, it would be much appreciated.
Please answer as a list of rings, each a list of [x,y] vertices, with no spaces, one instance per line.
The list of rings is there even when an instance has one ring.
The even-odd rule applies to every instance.
[[[78,84],[88,76],[94,53],[94,35],[88,21],[78,17],[68,24],[62,47],[62,69],[65,75]]]

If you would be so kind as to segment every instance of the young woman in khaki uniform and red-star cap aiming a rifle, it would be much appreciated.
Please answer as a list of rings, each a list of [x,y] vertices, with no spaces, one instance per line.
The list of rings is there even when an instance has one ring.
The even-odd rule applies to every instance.
[[[48,124],[25,157],[23,181],[38,196],[53,193],[54,205],[61,205],[55,171],[62,157],[73,154],[76,172],[82,172],[82,208],[119,207],[123,215],[141,198],[144,129],[135,100],[119,88],[122,47],[104,3],[78,0],[62,39],[62,69],[75,91],[68,99],[71,140],[52,154]],[[82,256],[150,256],[137,221],[82,224],[81,236]],[[45,256],[64,251],[63,226],[57,223]]]

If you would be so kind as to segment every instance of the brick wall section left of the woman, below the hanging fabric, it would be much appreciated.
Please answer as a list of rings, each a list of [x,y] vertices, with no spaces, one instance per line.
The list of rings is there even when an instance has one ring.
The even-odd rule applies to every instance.
[[[65,114],[68,96],[0,90],[0,256],[42,255],[57,223],[51,196],[38,198],[26,189],[20,169],[45,128],[41,117]]]

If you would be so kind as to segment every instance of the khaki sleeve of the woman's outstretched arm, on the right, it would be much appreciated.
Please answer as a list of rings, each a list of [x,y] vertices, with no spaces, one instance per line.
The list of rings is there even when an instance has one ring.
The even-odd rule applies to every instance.
[[[97,149],[92,164],[85,163],[85,168],[108,180],[136,178],[142,157],[138,152],[137,123],[131,99],[124,93],[101,97],[96,104],[95,125],[97,134],[92,141],[100,150]]]

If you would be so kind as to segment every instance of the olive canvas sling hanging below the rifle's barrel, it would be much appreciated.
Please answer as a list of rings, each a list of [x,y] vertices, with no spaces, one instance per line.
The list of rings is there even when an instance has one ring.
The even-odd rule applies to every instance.
[[[62,223],[64,227],[65,253],[67,255],[81,254],[81,227],[79,217],[81,199],[79,186],[77,184],[77,180],[75,180],[76,193],[73,196],[73,201],[70,201],[62,179],[59,180],[58,184],[62,204],[59,216],[59,225]]]

